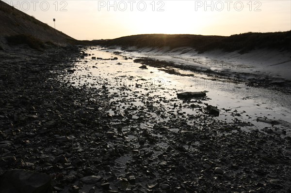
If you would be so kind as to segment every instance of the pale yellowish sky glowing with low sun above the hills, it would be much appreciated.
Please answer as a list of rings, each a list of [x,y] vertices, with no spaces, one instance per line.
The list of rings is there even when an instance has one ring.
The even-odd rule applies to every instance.
[[[291,0],[2,1],[78,40],[291,30]]]

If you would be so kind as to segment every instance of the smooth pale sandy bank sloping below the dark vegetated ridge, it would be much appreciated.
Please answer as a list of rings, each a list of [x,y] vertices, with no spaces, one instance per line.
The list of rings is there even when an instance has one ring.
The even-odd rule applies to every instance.
[[[291,81],[291,54],[287,51],[259,49],[239,54],[238,51],[215,50],[198,54],[189,47],[172,50],[131,47],[130,50],[135,50],[134,54],[139,52],[140,56],[174,61],[181,66],[191,65],[202,71],[203,68],[210,69],[242,80],[268,78],[271,83]]]

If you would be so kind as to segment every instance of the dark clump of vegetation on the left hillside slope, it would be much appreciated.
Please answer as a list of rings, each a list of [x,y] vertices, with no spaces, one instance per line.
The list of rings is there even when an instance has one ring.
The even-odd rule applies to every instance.
[[[42,50],[43,48],[45,48],[45,44],[41,40],[33,37],[32,35],[27,34],[13,35],[6,37],[6,40],[11,45],[26,44],[31,48],[37,50]]]

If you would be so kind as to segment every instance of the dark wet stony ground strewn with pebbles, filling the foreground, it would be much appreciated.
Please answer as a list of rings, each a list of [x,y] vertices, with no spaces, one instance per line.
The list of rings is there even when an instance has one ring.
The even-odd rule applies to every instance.
[[[208,93],[181,100],[143,72],[88,82],[130,59],[84,50],[0,51],[1,185],[21,169],[48,175],[54,193],[291,192],[290,134],[215,119]]]

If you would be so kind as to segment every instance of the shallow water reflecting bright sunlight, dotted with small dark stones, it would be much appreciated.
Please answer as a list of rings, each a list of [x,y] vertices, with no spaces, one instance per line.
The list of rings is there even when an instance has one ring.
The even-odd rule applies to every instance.
[[[189,119],[189,116],[190,118],[191,116],[197,117],[203,111],[195,108],[195,105],[189,106],[189,104],[178,100],[176,93],[207,90],[206,99],[197,99],[197,101],[192,99],[191,104],[200,103],[204,107],[206,104],[217,106],[220,115],[214,119],[229,123],[235,123],[236,119],[241,120],[246,123],[241,127],[244,130],[268,127],[289,131],[288,124],[272,126],[257,121],[257,118],[267,118],[290,123],[291,96],[288,94],[263,88],[247,87],[243,82],[229,82],[226,79],[215,79],[208,77],[207,74],[197,74],[184,70],[178,70],[178,72],[194,74],[194,76],[167,74],[150,66],[143,70],[139,68],[141,64],[133,62],[135,58],[126,60],[122,54],[113,54],[116,51],[114,49],[100,50],[99,47],[91,47],[84,51],[91,56],[81,59],[75,66],[76,72],[69,74],[64,79],[75,82],[76,86],[85,85],[100,89],[105,85],[110,92],[110,102],[116,103],[116,109],[107,109],[111,115],[123,114],[125,109],[132,107],[138,107],[130,109],[133,115],[138,114],[140,108],[160,108],[159,115],[153,110],[147,112],[146,115],[134,115],[132,119],[142,117],[148,119],[148,123],[150,123],[170,120],[171,116],[175,114],[180,117],[184,116],[190,125],[194,125],[194,120]],[[92,57],[103,58],[103,60],[91,59]],[[118,59],[104,60],[114,57]],[[179,108],[174,108],[174,103],[177,103]],[[162,114],[164,116],[161,116]]]

